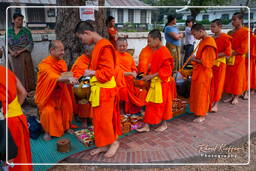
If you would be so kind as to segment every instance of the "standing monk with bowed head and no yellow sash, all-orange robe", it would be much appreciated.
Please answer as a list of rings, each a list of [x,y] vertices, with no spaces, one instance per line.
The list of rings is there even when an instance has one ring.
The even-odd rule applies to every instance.
[[[202,122],[209,111],[212,67],[217,58],[217,45],[215,40],[207,35],[201,24],[194,24],[191,28],[191,34],[201,41],[196,56],[192,58],[190,111],[198,116],[194,120],[195,122]]]

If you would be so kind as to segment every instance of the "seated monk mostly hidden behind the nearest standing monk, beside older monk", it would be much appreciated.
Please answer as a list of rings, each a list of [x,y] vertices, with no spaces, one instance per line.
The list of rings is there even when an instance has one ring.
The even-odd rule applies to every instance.
[[[84,75],[86,69],[89,69],[89,65],[91,62],[91,53],[94,46],[85,46],[85,53],[77,58],[75,63],[71,68],[71,72],[73,72],[73,76],[79,79]],[[73,94],[72,94],[73,95]],[[87,127],[87,121],[92,118],[91,114],[91,105],[87,104],[77,104],[75,100],[73,100],[73,108],[74,113],[77,113],[78,116],[82,119],[82,127]]]

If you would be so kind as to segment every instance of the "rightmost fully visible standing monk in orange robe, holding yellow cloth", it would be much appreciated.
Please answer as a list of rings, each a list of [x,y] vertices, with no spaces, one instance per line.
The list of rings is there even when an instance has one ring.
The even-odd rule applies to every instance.
[[[235,13],[232,17],[232,25],[235,27],[232,36],[232,55],[228,60],[224,92],[231,97],[224,102],[238,103],[238,98],[245,91],[246,67],[245,57],[248,52],[248,29],[242,26],[243,16]],[[245,94],[246,95],[246,94]]]

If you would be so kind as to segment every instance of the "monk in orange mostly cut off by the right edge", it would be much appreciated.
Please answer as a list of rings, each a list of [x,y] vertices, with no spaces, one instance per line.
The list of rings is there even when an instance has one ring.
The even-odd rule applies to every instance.
[[[255,31],[254,31],[255,32]],[[251,93],[256,92],[256,35],[251,35],[251,49],[250,49],[250,81],[251,81]]]

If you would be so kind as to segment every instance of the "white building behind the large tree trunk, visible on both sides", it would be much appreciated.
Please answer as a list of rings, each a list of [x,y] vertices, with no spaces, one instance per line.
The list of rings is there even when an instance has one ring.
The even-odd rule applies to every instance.
[[[5,29],[6,13],[8,6],[56,6],[58,0],[1,0],[0,1],[0,30]],[[149,7],[149,5],[139,0],[105,0],[106,15],[116,18],[116,23],[151,23],[151,9],[149,8],[127,8],[127,6]],[[118,8],[113,8],[118,6]],[[49,27],[54,29],[56,22],[57,9],[55,8],[10,8],[8,10],[8,21],[12,21],[15,12],[24,15],[24,25],[33,29]],[[11,22],[8,23],[11,26]]]

